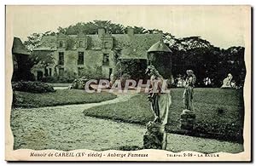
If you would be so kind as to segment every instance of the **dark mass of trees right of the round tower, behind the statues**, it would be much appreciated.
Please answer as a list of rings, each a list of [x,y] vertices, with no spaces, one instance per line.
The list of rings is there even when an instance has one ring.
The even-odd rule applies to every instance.
[[[210,77],[212,86],[220,87],[228,73],[233,75],[237,84],[244,82],[246,72],[243,47],[219,49],[201,37],[175,38],[166,35],[164,41],[172,49],[174,77],[192,69],[198,86],[204,86],[204,78]]]

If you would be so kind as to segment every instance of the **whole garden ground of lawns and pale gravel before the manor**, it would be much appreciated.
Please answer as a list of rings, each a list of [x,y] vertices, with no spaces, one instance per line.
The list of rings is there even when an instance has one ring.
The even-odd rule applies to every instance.
[[[168,151],[243,151],[241,89],[195,88],[196,122],[190,133],[180,129],[183,89],[172,89],[171,93]],[[11,115],[15,149],[138,150],[143,148],[145,124],[153,120],[148,94],[57,89],[48,93],[15,91],[15,95]]]

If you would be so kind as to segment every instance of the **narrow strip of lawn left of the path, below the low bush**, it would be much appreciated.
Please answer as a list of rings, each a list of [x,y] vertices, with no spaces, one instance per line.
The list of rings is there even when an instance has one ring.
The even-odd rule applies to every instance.
[[[57,89],[55,92],[33,94],[15,91],[16,101],[13,107],[33,108],[42,106],[62,106],[71,104],[96,103],[116,98],[107,92],[88,94],[79,89]]]

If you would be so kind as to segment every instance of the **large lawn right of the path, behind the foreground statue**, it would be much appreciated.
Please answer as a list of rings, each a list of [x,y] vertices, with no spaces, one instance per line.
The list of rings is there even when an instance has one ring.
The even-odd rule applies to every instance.
[[[244,116],[242,89],[196,88],[195,130],[190,133],[184,133],[180,129],[179,120],[183,111],[182,94],[183,89],[172,89],[172,106],[166,125],[168,132],[242,142]],[[137,94],[125,102],[86,109],[84,115],[143,125],[153,120],[147,94]]]

